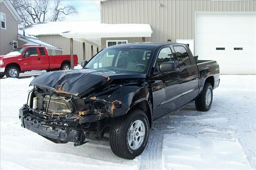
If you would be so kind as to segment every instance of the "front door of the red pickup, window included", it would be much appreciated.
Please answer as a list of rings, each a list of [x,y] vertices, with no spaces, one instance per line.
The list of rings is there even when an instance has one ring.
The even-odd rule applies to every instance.
[[[39,69],[40,60],[38,59],[36,47],[29,47],[24,53],[28,53],[28,56],[22,58],[21,61],[24,71]]]

